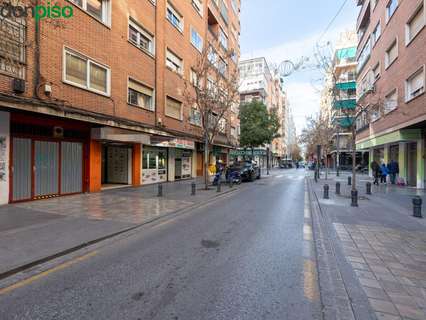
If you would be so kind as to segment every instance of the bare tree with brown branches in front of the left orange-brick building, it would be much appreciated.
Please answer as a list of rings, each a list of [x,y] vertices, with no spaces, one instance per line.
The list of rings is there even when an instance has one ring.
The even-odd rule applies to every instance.
[[[191,66],[190,79],[185,81],[185,102],[192,108],[191,116],[199,118],[204,139],[204,182],[208,189],[210,149],[219,132],[226,132],[231,108],[239,104],[239,78],[235,52],[225,50],[219,55],[215,47],[205,45]]]

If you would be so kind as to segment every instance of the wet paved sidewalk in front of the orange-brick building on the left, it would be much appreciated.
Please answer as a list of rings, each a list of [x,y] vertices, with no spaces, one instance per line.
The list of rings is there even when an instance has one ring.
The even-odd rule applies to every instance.
[[[222,185],[217,193],[216,187],[204,190],[197,179],[196,195],[191,196],[193,181],[164,183],[161,198],[158,185],[149,185],[1,206],[0,277],[244,187]]]

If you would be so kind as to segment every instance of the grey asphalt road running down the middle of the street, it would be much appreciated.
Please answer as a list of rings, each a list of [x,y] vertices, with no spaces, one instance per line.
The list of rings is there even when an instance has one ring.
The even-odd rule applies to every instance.
[[[320,319],[304,171],[244,189],[0,294],[0,319]]]

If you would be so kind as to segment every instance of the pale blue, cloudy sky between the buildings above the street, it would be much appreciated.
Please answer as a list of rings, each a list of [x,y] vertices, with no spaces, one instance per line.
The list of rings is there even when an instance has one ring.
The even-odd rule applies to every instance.
[[[317,42],[335,43],[340,32],[355,29],[358,15],[355,0],[346,0],[343,10],[329,26],[344,2],[241,0],[241,59],[263,56],[268,63],[277,64],[284,60],[297,62],[302,57],[314,61]],[[284,80],[298,134],[306,117],[319,111],[321,78],[319,71],[306,68]]]

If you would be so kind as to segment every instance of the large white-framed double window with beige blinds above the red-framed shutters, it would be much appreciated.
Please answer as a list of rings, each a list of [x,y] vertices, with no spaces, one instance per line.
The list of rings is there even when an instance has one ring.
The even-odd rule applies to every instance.
[[[69,49],[64,52],[64,82],[104,95],[110,92],[110,70]]]

